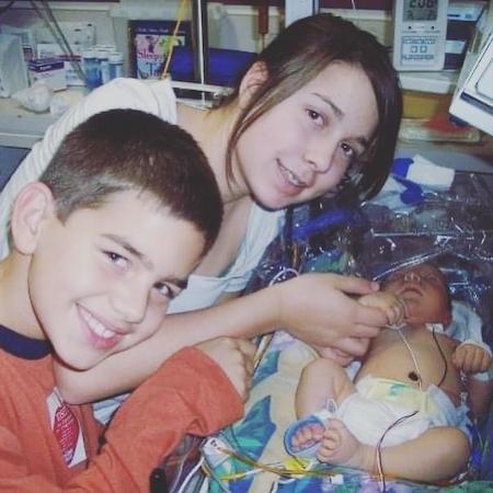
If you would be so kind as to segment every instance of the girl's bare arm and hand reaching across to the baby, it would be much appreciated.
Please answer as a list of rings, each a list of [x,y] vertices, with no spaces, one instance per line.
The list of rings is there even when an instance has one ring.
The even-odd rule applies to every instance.
[[[184,346],[220,335],[251,337],[275,328],[308,343],[358,353],[358,337],[377,335],[386,317],[347,295],[375,289],[372,283],[356,277],[306,274],[208,309],[171,314],[152,337],[90,370],[58,366],[58,386],[68,402],[94,401],[134,389]]]

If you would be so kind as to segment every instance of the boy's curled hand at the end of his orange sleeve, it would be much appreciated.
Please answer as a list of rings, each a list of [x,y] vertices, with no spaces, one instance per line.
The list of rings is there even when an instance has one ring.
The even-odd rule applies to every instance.
[[[256,346],[243,339],[217,337],[196,347],[220,366],[244,402],[250,393]]]

